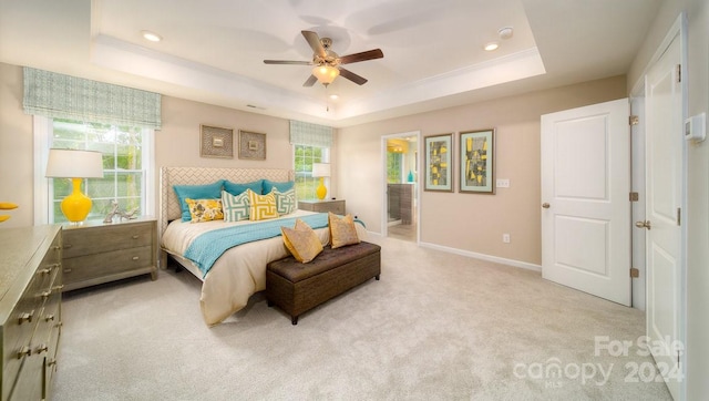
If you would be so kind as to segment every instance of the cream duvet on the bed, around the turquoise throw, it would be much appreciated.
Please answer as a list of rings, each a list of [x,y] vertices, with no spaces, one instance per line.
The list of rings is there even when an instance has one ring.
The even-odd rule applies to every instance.
[[[296,210],[281,218],[292,218],[311,215],[312,212]],[[189,223],[174,220],[163,233],[161,245],[169,254],[183,256],[192,241],[203,233],[228,226],[244,226],[258,222],[225,223],[205,222]],[[354,224],[360,239],[364,239],[367,232],[360,224]],[[315,229],[322,245],[330,240],[328,227]],[[202,316],[208,326],[219,323],[237,310],[244,308],[251,295],[266,289],[266,265],[273,260],[288,256],[282,237],[261,239],[243,244],[225,251],[212,266],[205,277],[196,266],[188,268],[202,279],[202,297],[199,305]],[[185,261],[182,259],[181,261]]]

